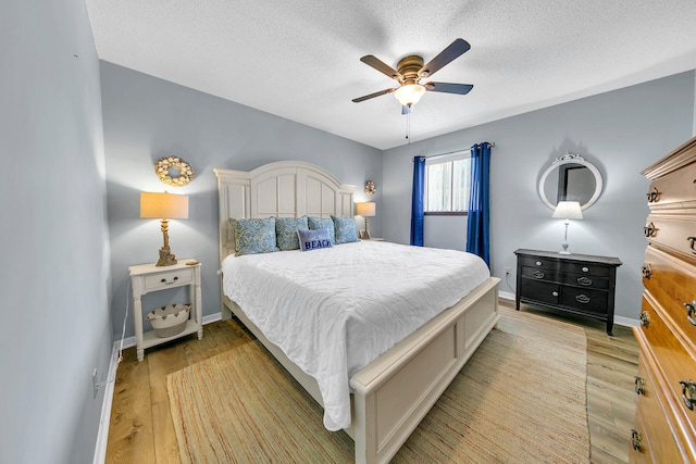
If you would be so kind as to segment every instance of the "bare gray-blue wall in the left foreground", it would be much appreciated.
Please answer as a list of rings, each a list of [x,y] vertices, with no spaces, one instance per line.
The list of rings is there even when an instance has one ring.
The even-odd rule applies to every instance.
[[[112,350],[99,61],[82,0],[0,7],[0,462],[89,463]]]

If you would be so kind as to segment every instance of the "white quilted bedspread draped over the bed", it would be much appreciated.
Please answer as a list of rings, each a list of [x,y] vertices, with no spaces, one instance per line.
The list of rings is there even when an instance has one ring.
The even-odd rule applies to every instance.
[[[359,241],[223,261],[225,294],[314,377],[324,426],[350,425],[350,377],[490,273],[461,251]]]

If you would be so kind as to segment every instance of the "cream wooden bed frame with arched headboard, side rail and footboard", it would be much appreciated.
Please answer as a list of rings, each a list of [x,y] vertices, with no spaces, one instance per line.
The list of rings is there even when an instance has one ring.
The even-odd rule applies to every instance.
[[[353,217],[355,186],[321,167],[277,162],[251,172],[214,170],[220,200],[220,260],[234,253],[229,217]],[[356,463],[386,463],[457,376],[498,321],[498,284],[488,278],[457,304],[363,367],[350,379]],[[222,292],[222,283],[221,283]],[[314,378],[295,365],[222,294],[223,318],[236,316],[319,402]]]

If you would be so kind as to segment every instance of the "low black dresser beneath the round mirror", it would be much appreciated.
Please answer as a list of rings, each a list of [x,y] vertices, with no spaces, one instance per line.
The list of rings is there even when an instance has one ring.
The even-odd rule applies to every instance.
[[[606,321],[612,335],[619,259],[522,249],[514,254],[518,311],[522,302]]]

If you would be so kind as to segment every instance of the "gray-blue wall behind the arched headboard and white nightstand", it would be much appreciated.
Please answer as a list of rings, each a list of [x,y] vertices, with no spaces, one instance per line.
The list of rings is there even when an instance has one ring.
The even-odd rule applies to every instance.
[[[356,185],[356,201],[364,200],[365,180],[375,180],[377,216],[370,220],[370,229],[375,236],[382,233],[380,150],[107,62],[101,63],[101,90],[112,322],[117,329],[127,303],[127,267],[157,261],[162,246],[159,221],[139,218],[140,191],[166,189],[190,196],[189,218],[170,222],[170,246],[178,258],[196,258],[203,264],[203,316],[220,312],[213,167],[249,171],[274,161],[304,161]],[[179,188],[161,184],[153,164],[164,155],[189,162],[196,170],[194,181]],[[146,296],[144,312],[185,298],[172,293]],[[133,324],[126,329],[126,336],[134,334]]]

